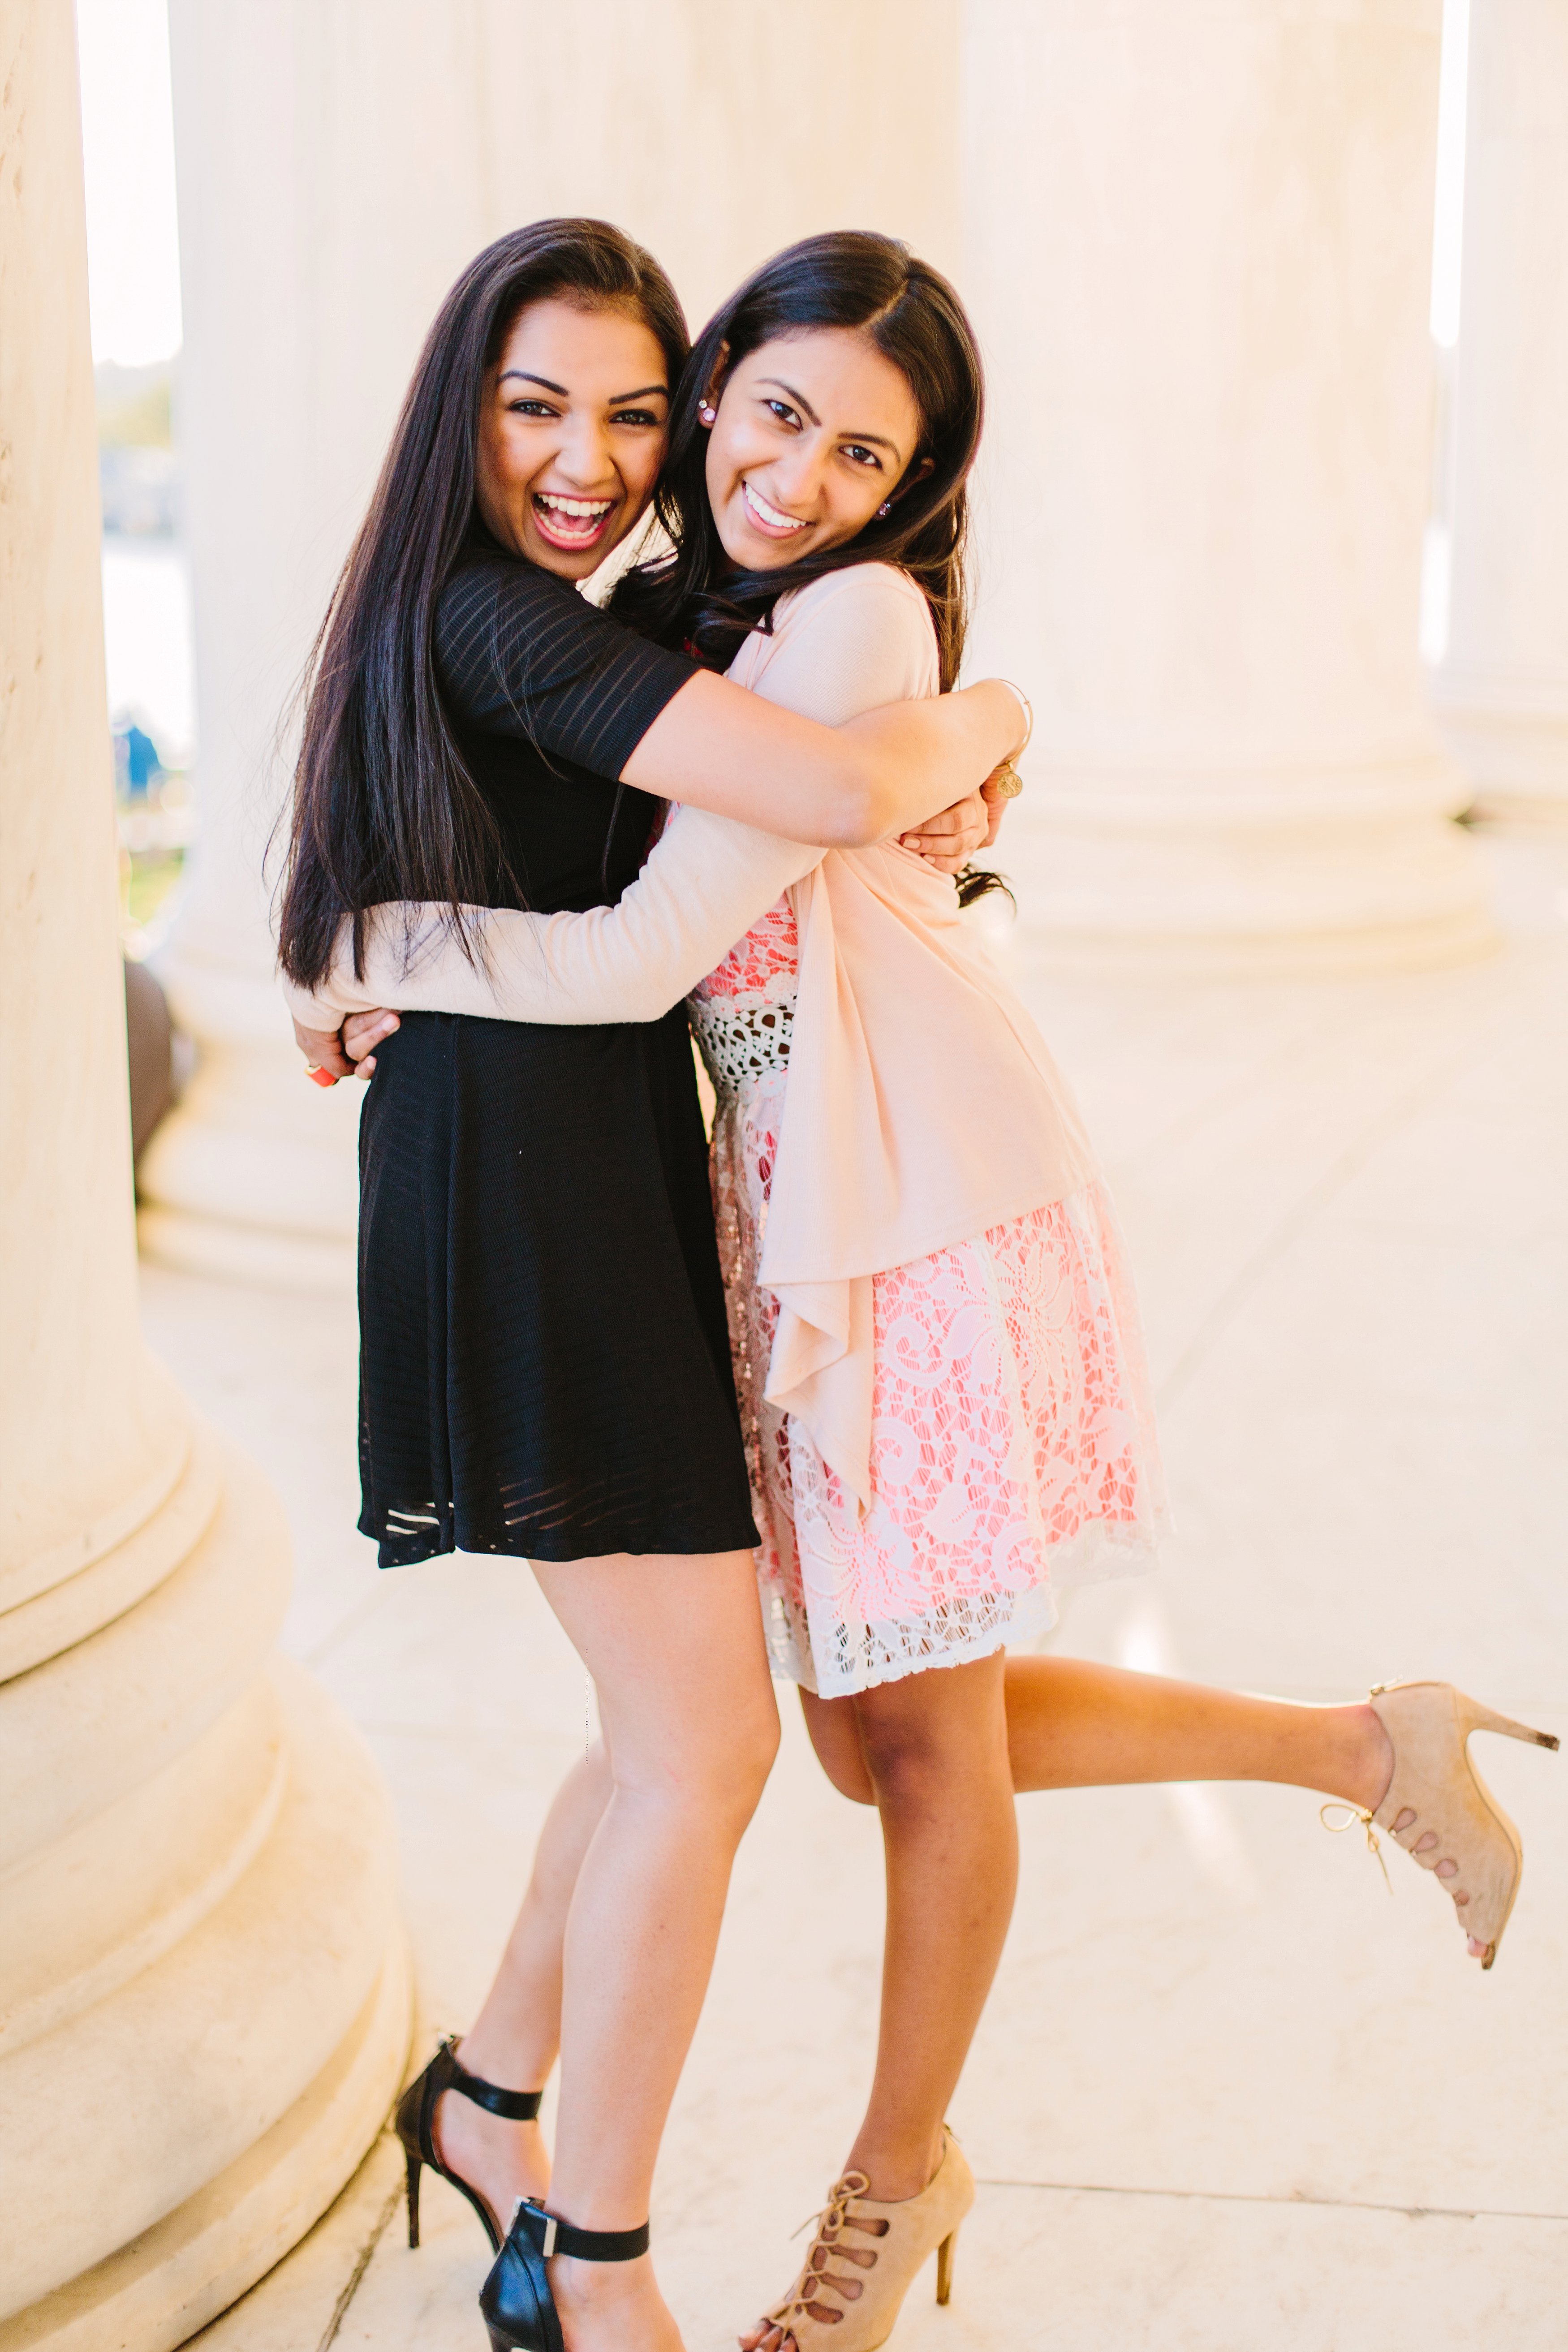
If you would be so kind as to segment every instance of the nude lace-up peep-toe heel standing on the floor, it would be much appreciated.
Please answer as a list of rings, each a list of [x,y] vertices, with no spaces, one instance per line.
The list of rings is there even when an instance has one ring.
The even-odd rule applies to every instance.
[[[877,2352],[893,2333],[914,2272],[936,2249],[936,2300],[952,2293],[952,2251],[976,2201],[976,2176],[943,2124],[943,2161],[919,2197],[867,2197],[865,2173],[844,2173],[816,2223],[799,2279],[766,2324],[797,2352]],[[884,2225],[884,2227],[877,2227]],[[816,2319],[811,2305],[835,2312]]]

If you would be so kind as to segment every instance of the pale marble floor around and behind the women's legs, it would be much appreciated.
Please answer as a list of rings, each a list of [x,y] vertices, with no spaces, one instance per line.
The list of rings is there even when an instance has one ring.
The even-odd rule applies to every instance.
[[[1568,1733],[1568,844],[1486,851],[1507,943],[1465,969],[1063,981],[1018,946],[1133,1244],[1180,1522],[1063,1649],[1300,1698],[1446,1675]],[[423,2051],[480,1999],[583,1675],[517,1564],[376,1573],[348,1301],[148,1268],[146,1324],[287,1498],[287,1646],[393,1788]],[[1389,1898],[1305,1795],[1023,1799],[954,2100],[980,2201],[907,2352],[1561,2347],[1568,1764],[1483,1745],[1528,1846],[1490,1976],[1429,1879],[1394,1856]],[[863,2098],[877,1940],[877,1823],[785,1705],[654,2206],[691,2352],[792,2272]],[[409,2253],[397,2192],[383,2140],[205,2352],[480,2352],[468,2209],[430,2183]]]

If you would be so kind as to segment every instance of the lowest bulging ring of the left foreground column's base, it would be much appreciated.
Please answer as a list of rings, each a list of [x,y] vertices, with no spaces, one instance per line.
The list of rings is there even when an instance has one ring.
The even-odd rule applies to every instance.
[[[313,2227],[397,2091],[411,1987],[386,1797],[327,1693],[282,1661],[275,1677],[284,1785],[254,1858],[5,2065],[0,2352],[169,2352]]]

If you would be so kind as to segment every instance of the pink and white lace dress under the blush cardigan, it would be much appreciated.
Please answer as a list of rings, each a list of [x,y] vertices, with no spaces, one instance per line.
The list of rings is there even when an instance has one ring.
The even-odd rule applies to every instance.
[[[757,1284],[795,1018],[788,898],[689,1000],[717,1094],[712,1192],[773,1670],[844,1698],[1030,1646],[1053,1585],[1152,1564],[1164,1524],[1133,1289],[1105,1190],[872,1282],[872,1503],[766,1402]]]

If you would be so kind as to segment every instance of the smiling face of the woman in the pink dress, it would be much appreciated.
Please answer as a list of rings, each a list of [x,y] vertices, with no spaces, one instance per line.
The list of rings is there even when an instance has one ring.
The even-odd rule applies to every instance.
[[[764,343],[724,376],[708,433],[724,553],[743,572],[778,572],[844,546],[893,496],[917,447],[914,393],[867,336],[811,327]]]

